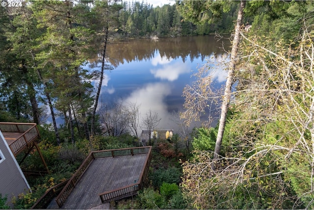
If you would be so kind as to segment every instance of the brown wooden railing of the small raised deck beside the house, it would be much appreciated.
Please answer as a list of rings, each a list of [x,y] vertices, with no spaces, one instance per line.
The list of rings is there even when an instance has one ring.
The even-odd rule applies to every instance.
[[[19,154],[26,146],[29,146],[29,143],[39,137],[39,131],[35,123],[0,123],[0,131],[21,133],[9,145],[14,155]]]

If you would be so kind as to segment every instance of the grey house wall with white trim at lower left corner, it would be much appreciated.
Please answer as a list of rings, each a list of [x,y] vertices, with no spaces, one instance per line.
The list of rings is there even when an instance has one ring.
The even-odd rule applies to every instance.
[[[0,151],[0,193],[2,197],[7,195],[7,204],[12,206],[12,198],[18,197],[21,193],[29,192],[30,187],[1,131]]]

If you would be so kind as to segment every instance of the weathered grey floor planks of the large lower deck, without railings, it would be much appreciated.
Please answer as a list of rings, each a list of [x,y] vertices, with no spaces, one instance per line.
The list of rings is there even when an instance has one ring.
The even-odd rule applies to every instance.
[[[96,158],[71,192],[62,209],[90,209],[101,205],[98,194],[134,184],[139,179],[148,155]]]

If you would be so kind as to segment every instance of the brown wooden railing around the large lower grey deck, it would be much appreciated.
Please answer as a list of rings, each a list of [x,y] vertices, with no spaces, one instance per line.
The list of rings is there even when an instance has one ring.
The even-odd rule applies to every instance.
[[[62,205],[65,203],[66,199],[68,198],[68,196],[70,195],[70,193],[73,190],[73,188],[78,183],[79,179],[82,177],[83,173],[87,170],[88,166],[91,164],[91,162],[95,158],[117,157],[117,156],[127,156],[127,155],[136,155],[136,154],[146,154],[146,153],[149,153],[150,156],[149,156],[149,158],[146,159],[145,167],[144,167],[144,169],[143,169],[143,171],[142,171],[142,173],[140,175],[140,179],[138,181],[138,183],[140,183],[140,180],[141,180],[141,178],[143,176],[144,171],[147,171],[149,169],[149,164],[148,163],[150,162],[150,159],[151,159],[151,149],[152,149],[152,147],[149,146],[149,147],[132,147],[132,148],[123,148],[123,149],[114,149],[114,150],[101,150],[101,151],[91,152],[86,157],[86,159],[81,164],[81,166],[78,168],[78,170],[74,173],[74,175],[69,180],[69,182],[64,186],[64,188],[62,189],[60,194],[56,197],[55,201],[57,202],[58,206],[61,208]],[[148,162],[148,159],[149,159],[149,162]],[[148,164],[148,166],[147,166],[147,164]],[[133,185],[140,186],[141,185],[141,184],[138,184],[138,183],[126,186],[127,188],[130,187],[130,189],[124,189],[126,187],[120,188],[121,192],[124,195],[125,193],[127,193],[127,191],[131,190],[131,186],[133,186]],[[117,190],[119,190],[119,189],[117,189]],[[117,190],[113,190],[113,191],[117,191]],[[106,192],[102,193],[102,194],[106,194]],[[117,196],[113,192],[112,192],[112,194],[113,194],[113,196]],[[111,194],[110,194],[110,196],[111,196]],[[101,199],[102,199],[102,197],[101,197]]]

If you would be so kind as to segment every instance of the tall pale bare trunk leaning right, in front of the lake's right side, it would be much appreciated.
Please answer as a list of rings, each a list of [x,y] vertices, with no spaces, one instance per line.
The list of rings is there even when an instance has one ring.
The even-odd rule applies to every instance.
[[[245,3],[246,3],[245,0],[241,0],[240,7],[237,13],[237,20],[236,20],[236,25],[235,25],[235,37],[232,43],[231,60],[228,67],[228,77],[226,81],[223,102],[221,105],[221,114],[220,114],[220,119],[219,119],[218,134],[217,134],[215,151],[214,151],[214,159],[216,159],[220,153],[222,138],[225,131],[226,117],[227,117],[228,106],[229,106],[229,102],[231,98],[231,88],[232,88],[234,74],[235,74],[235,62],[236,62],[236,57],[237,57],[237,52],[238,52],[238,47],[239,47],[239,42],[240,42],[240,30],[241,30],[243,9],[245,7]],[[214,170],[215,166],[212,164],[211,168]]]

